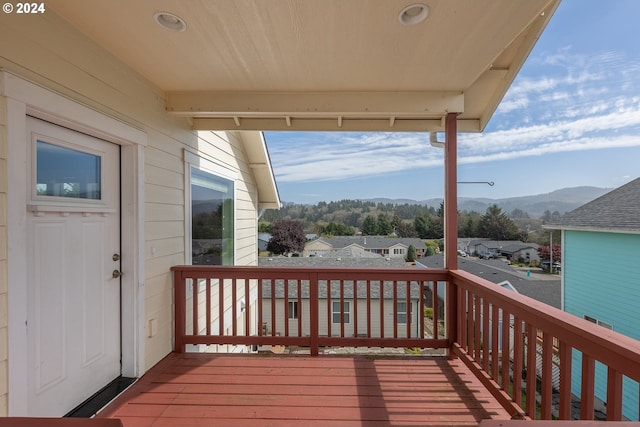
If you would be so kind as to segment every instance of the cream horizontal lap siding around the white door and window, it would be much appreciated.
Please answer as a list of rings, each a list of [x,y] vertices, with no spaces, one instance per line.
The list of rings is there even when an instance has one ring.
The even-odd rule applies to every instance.
[[[169,268],[185,262],[185,149],[238,174],[236,234],[239,241],[236,263],[257,263],[256,185],[245,160],[241,140],[236,134],[194,132],[184,118],[168,115],[162,91],[78,33],[53,10],[42,15],[25,16],[24,19],[33,21],[36,27],[24,25],[25,21],[13,16],[0,16],[1,68],[147,133],[148,146],[144,150],[145,246],[141,248],[146,260],[145,327],[149,327],[151,320],[158,325],[153,336],[146,340],[148,368],[172,349],[172,280]],[[33,32],[29,28],[38,28],[38,31]],[[4,107],[4,103],[1,105]],[[6,141],[2,137],[4,130],[1,124],[0,154],[4,155]],[[2,177],[0,182],[4,182]],[[2,192],[0,189],[0,202],[3,200]],[[0,209],[4,209],[1,204]],[[0,212],[0,219],[3,218],[5,215]],[[0,230],[3,226],[0,223]],[[0,244],[6,245],[4,237]],[[1,254],[4,251],[0,247]],[[6,273],[0,270],[0,274],[1,305],[6,299]],[[1,312],[6,313],[6,310]],[[6,412],[3,392],[7,384],[2,360],[7,347],[3,343],[6,342],[3,326],[0,324],[0,415]]]

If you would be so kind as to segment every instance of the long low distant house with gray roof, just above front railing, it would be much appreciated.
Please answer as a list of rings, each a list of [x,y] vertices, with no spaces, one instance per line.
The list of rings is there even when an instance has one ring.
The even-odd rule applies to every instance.
[[[323,256],[331,250],[355,246],[366,252],[387,258],[406,258],[407,251],[411,245],[416,248],[416,257],[424,256],[427,246],[424,241],[417,238],[380,236],[320,237],[305,244],[303,256]]]

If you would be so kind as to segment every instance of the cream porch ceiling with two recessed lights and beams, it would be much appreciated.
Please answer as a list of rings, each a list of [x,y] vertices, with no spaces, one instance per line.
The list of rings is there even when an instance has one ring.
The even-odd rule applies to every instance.
[[[418,2],[420,0],[416,0]],[[49,0],[194,129],[481,131],[560,0]],[[187,24],[166,30],[170,12]]]

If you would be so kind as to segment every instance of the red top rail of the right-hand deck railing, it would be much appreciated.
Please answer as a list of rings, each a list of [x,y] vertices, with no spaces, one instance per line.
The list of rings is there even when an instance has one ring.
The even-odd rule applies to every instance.
[[[640,341],[503,289],[466,271],[451,270],[449,275],[457,285],[472,289],[474,294],[486,298],[491,304],[640,381]]]

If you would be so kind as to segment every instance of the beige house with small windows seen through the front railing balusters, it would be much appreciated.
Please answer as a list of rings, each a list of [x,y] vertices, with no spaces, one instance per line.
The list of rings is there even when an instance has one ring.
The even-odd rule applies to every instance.
[[[405,286],[398,286],[397,300],[394,304],[393,300],[393,287],[389,282],[383,284],[382,292],[380,292],[380,284],[371,282],[371,336],[380,337],[381,329],[385,337],[394,336],[394,323],[397,324],[398,337],[404,338],[407,336],[407,321],[411,324],[411,337],[419,336],[420,324],[418,322],[418,315],[420,310],[418,309],[420,304],[420,286],[417,283],[411,284],[409,302],[407,304],[407,290]],[[321,336],[339,336],[341,333],[340,325],[341,320],[344,319],[345,323],[345,336],[366,336],[367,334],[367,289],[366,282],[359,282],[357,286],[357,294],[354,296],[353,285],[348,284],[344,288],[344,305],[340,304],[340,291],[339,283],[331,282],[331,307],[329,314],[329,307],[327,307],[327,284],[320,283],[318,285],[319,301],[318,312],[319,318],[319,332]],[[284,313],[285,307],[285,290],[284,281],[277,280],[275,282],[275,304],[272,304],[272,289],[271,283],[266,282],[262,287],[262,315],[263,319],[267,319],[263,328],[267,333],[272,333],[275,328],[275,333],[284,335],[284,316],[276,316],[276,324],[272,325],[271,322],[271,310],[272,306],[275,306],[277,313]],[[384,310],[384,327],[380,325],[380,298],[383,298],[383,310]],[[288,328],[289,335],[298,334],[298,316],[301,316],[302,331],[301,335],[309,335],[309,286],[303,285],[298,299],[297,286],[289,285],[288,287],[288,300],[286,301],[288,306]],[[301,304],[301,306],[299,306]],[[357,310],[354,305],[357,304]],[[358,331],[354,330],[354,316],[357,311],[358,316]],[[329,326],[331,325],[331,326]],[[331,333],[329,334],[329,327],[331,327]]]

